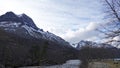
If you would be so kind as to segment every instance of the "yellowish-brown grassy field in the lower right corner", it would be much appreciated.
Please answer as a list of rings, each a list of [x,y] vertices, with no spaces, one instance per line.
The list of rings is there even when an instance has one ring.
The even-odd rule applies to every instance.
[[[103,60],[89,62],[88,68],[120,68],[120,61]]]

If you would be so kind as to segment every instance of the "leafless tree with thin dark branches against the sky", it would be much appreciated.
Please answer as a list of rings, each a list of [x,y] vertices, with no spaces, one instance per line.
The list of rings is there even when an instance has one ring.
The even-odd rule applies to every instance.
[[[107,43],[120,45],[120,0],[103,0],[107,23],[99,29],[104,33]]]

